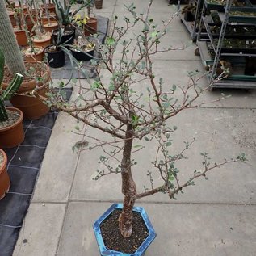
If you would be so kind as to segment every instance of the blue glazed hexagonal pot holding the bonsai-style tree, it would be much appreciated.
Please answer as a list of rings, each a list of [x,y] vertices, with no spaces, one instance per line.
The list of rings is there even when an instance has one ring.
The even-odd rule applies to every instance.
[[[126,254],[126,253],[123,253],[120,251],[107,249],[107,247],[105,246],[104,241],[103,241],[100,225],[105,219],[107,219],[108,216],[111,215],[112,212],[115,211],[115,209],[122,209],[122,208],[123,208],[123,204],[112,204],[111,207],[108,208],[107,211],[104,212],[103,215],[100,216],[99,219],[94,222],[94,225],[93,225],[94,235],[96,237],[101,256],[107,256],[107,255],[111,255],[111,256],[114,256],[114,255],[115,256],[142,256],[145,254],[145,251],[148,249],[149,245],[152,243],[154,238],[157,236],[157,234],[155,233],[153,226],[149,220],[149,217],[148,217],[147,213],[145,212],[145,209],[141,208],[141,207],[134,207],[132,211],[139,212],[141,214],[141,217],[144,220],[145,226],[147,227],[147,229],[149,231],[149,236],[146,237],[144,241],[142,241],[141,246],[139,246],[137,248],[136,252],[132,253],[132,254]],[[116,225],[118,225],[118,223]]]

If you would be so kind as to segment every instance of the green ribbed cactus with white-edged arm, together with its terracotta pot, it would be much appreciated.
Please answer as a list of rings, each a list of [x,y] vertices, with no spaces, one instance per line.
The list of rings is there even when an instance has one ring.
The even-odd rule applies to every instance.
[[[4,55],[0,48],[0,84],[3,79]],[[15,78],[2,90],[0,86],[0,148],[12,148],[19,145],[24,139],[23,112],[15,107],[5,107],[4,101],[19,89],[23,82],[23,75],[15,74]]]

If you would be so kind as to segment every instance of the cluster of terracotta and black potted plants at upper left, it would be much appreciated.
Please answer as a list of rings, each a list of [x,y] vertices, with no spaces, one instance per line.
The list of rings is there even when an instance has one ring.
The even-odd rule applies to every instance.
[[[61,3],[58,0],[42,0],[41,5],[37,1],[31,1],[28,5],[27,2],[24,4],[19,0],[19,6],[10,5],[8,2],[6,1],[6,7],[9,10],[9,18],[11,19],[14,14],[15,21],[11,23],[15,25],[16,39],[19,46],[23,47],[22,52],[27,61],[43,61],[45,55],[50,67],[61,67],[65,65],[64,52],[69,48],[67,45],[73,44],[75,31],[80,33],[84,42],[88,42],[88,36],[97,33],[97,19],[91,16],[91,8],[94,5],[98,8],[102,6],[98,1],[82,0],[82,5],[73,13],[70,10],[75,1],[65,0]],[[85,7],[87,16],[81,18],[78,12]],[[73,56],[76,57],[76,53],[80,51],[79,56],[84,56],[86,60],[90,59],[90,55],[82,53],[86,52],[87,48],[91,49],[93,44],[88,44],[88,47],[84,47],[83,43],[80,49],[78,47],[81,44],[73,45]]]

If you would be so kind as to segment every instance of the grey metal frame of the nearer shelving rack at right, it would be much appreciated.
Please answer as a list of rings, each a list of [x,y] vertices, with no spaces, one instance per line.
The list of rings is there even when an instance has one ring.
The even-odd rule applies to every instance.
[[[230,56],[230,57],[246,57],[246,56],[250,56],[250,57],[256,57],[256,54],[245,54],[245,53],[224,53],[221,52],[222,49],[222,45],[223,45],[223,40],[225,38],[225,31],[226,31],[226,27],[228,24],[231,25],[241,25],[241,23],[229,23],[229,10],[230,7],[232,6],[233,0],[227,0],[226,2],[226,6],[225,6],[225,13],[223,15],[220,15],[220,19],[222,22],[221,28],[220,28],[220,35],[219,35],[219,39],[218,39],[218,44],[216,45],[213,41],[213,37],[212,37],[212,32],[208,26],[208,23],[210,23],[210,20],[208,19],[208,16],[206,15],[206,10],[208,9],[208,5],[206,0],[203,0],[204,4],[203,4],[203,10],[202,10],[202,15],[201,15],[201,19],[199,22],[199,31],[198,31],[198,35],[197,35],[197,45],[199,48],[199,53],[200,53],[200,57],[201,60],[203,62],[203,65],[206,65],[207,61],[211,61],[212,57],[210,56],[210,54],[208,53],[208,48],[207,48],[207,42],[205,40],[201,40],[201,30],[202,30],[202,24],[204,23],[204,27],[206,28],[206,31],[208,32],[208,42],[210,44],[212,44],[212,48],[215,52],[215,57],[214,60],[212,60],[212,71],[210,76],[208,76],[208,80],[209,82],[213,82],[214,79],[216,78],[216,68],[217,65],[220,61],[220,56]],[[248,23],[242,23],[243,25],[250,25]],[[255,24],[254,24],[255,26]],[[246,81],[246,80],[242,80],[242,78],[236,78],[233,76],[232,80],[230,79],[222,79],[218,82],[215,82],[210,90],[212,90],[213,88],[243,88],[243,89],[251,89],[251,88],[256,88],[256,82],[255,81]]]

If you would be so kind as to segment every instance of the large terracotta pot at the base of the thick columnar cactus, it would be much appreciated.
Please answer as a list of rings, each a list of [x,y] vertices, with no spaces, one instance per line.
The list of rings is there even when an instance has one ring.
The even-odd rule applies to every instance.
[[[35,63],[35,61],[25,61],[25,63],[27,62]],[[47,65],[45,65],[45,67],[47,69],[42,75],[44,82],[37,83],[38,90],[35,95],[31,95],[32,90],[36,88],[36,80],[33,79],[28,82],[23,82],[17,91],[17,95],[12,96],[10,99],[10,103],[14,107],[18,107],[23,111],[25,120],[39,119],[41,116],[46,115],[50,110],[40,99],[40,96],[47,98],[46,93],[48,92],[48,84],[50,82],[50,71]],[[5,90],[7,86],[7,83],[2,82],[3,90]]]

